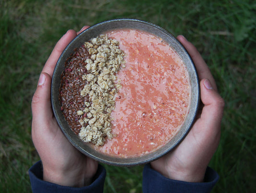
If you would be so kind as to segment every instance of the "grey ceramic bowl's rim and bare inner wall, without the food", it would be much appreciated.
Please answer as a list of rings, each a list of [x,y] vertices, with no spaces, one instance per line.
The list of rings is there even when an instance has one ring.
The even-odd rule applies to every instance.
[[[65,121],[65,118],[61,112],[61,105],[58,98],[59,88],[61,84],[61,73],[64,71],[65,68],[64,63],[65,60],[70,56],[70,54],[73,53],[73,49],[80,47],[85,41],[88,41],[89,39],[96,37],[104,33],[105,31],[119,28],[133,28],[144,30],[151,34],[157,35],[158,37],[161,37],[163,40],[168,42],[171,45],[171,47],[176,50],[176,52],[179,54],[184,64],[186,65],[187,70],[189,72],[189,78],[192,87],[191,105],[189,113],[180,131],[174,136],[174,138],[169,143],[167,143],[157,151],[152,152],[150,154],[146,154],[141,157],[112,157],[106,154],[102,154],[91,148],[86,143],[82,142],[79,136],[73,133],[68,123]],[[79,151],[81,151],[86,156],[91,157],[99,162],[116,166],[134,166],[139,164],[145,164],[153,160],[156,160],[159,157],[162,157],[163,155],[171,151],[176,145],[178,145],[183,140],[183,138],[186,136],[186,134],[192,127],[195,121],[199,99],[200,89],[197,72],[195,70],[195,65],[191,57],[187,53],[186,49],[183,47],[183,45],[178,41],[178,39],[175,38],[175,36],[171,35],[168,31],[164,30],[163,28],[155,24],[135,19],[116,19],[102,22],[89,27],[76,38],[74,38],[73,41],[62,52],[61,57],[59,58],[55,70],[53,72],[51,83],[52,109],[62,132],[70,141],[70,143],[72,143]]]

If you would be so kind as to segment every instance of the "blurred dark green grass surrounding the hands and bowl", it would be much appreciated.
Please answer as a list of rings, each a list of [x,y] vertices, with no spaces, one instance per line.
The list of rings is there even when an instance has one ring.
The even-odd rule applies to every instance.
[[[226,101],[213,192],[256,192],[255,12],[253,0],[0,1],[0,190],[31,192],[27,170],[39,157],[30,103],[55,43],[68,29],[126,17],[183,34],[202,53]],[[106,193],[142,192],[142,166],[105,167]]]

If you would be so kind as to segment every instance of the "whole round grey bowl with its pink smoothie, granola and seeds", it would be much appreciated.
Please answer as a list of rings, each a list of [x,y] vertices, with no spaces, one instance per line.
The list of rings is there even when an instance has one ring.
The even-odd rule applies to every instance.
[[[192,127],[200,99],[193,61],[163,28],[110,20],[62,52],[51,102],[67,139],[99,162],[134,166],[162,157]]]

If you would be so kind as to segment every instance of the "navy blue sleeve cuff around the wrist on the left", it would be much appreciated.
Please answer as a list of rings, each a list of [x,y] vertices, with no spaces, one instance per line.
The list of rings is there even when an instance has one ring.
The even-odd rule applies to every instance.
[[[43,181],[42,162],[38,161],[29,170],[29,177],[33,193],[103,193],[106,170],[98,165],[94,181],[81,188],[61,186],[58,184]]]

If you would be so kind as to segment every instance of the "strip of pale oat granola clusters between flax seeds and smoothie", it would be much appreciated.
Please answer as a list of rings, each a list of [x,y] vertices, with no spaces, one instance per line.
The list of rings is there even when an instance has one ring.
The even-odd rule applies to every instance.
[[[125,67],[124,52],[117,40],[106,35],[85,42],[85,48],[90,57],[86,59],[85,86],[80,94],[89,96],[89,102],[85,102],[85,109],[77,111],[77,115],[83,115],[79,137],[84,142],[104,145],[106,136],[112,138],[110,114],[115,107],[114,96],[121,88],[115,81],[116,73]]]

